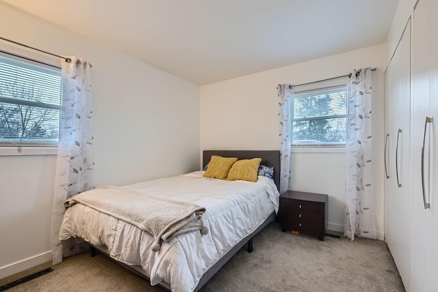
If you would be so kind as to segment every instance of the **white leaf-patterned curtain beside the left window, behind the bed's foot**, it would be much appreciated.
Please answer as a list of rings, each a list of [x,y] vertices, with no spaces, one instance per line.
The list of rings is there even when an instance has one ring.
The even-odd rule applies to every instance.
[[[62,256],[86,249],[71,242],[59,244],[59,233],[64,217],[64,201],[82,191],[94,188],[94,158],[92,136],[92,109],[90,62],[69,57],[70,63],[62,61],[62,102],[60,137],[57,150],[57,169],[51,247],[53,265],[62,262]]]

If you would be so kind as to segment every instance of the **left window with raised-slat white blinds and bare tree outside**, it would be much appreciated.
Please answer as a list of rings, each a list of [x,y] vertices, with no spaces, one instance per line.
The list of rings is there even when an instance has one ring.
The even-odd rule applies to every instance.
[[[0,145],[56,146],[61,71],[0,53]]]

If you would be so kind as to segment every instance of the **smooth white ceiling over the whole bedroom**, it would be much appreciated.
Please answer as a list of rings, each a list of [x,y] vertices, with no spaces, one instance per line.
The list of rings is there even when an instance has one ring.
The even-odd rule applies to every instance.
[[[199,85],[381,44],[398,5],[398,0],[0,1]],[[72,4],[76,11],[66,12]]]

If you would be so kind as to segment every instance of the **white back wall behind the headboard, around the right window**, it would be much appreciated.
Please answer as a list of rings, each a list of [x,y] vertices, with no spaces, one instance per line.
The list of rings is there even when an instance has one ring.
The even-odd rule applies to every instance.
[[[301,84],[375,67],[373,77],[374,194],[376,228],[383,239],[383,70],[387,46],[381,44],[274,70],[201,86],[201,150],[279,149],[279,83]],[[329,194],[329,228],[343,230],[345,152],[293,154],[292,189]]]

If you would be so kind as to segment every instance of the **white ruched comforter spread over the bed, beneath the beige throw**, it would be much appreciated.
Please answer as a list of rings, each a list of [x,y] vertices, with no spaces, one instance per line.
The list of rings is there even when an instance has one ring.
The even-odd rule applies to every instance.
[[[269,178],[259,176],[257,183],[249,183],[204,178],[203,174],[191,172],[125,188],[205,207],[207,235],[186,233],[152,252],[153,237],[148,233],[75,204],[66,210],[60,241],[82,237],[94,245],[106,245],[117,261],[140,265],[150,275],[152,285],[164,280],[172,291],[193,291],[209,267],[279,207],[279,192]]]

